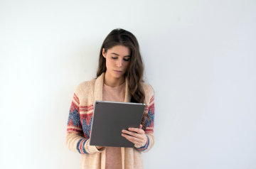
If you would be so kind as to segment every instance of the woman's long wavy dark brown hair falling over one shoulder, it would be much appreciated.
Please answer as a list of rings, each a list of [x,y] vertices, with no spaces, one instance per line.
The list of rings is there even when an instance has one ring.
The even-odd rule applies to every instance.
[[[137,38],[129,31],[126,31],[122,28],[116,28],[107,35],[102,43],[102,47],[100,48],[97,77],[102,75],[102,72],[107,71],[106,58],[104,58],[102,55],[102,49],[105,48],[105,52],[107,53],[107,50],[114,47],[115,45],[124,45],[131,50],[130,62],[127,72],[125,72],[124,76],[127,77],[128,80],[128,89],[132,95],[131,102],[144,103],[145,93],[142,87],[142,82],[144,82],[144,63],[142,60],[142,56],[139,52],[139,43],[137,41]],[[143,130],[146,129],[146,118],[147,121],[150,120],[149,115],[145,114],[144,112],[141,122]]]

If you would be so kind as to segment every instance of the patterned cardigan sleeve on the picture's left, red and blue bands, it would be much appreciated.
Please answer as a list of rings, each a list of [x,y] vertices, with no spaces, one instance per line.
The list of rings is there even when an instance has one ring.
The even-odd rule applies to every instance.
[[[70,111],[68,114],[68,128],[65,135],[65,144],[70,151],[80,154],[102,153],[104,148],[98,150],[96,146],[90,146],[90,138],[85,138],[84,131],[82,130],[82,123],[79,110],[79,87],[75,90],[73,100],[71,103]],[[86,127],[86,126],[85,126]],[[86,130],[86,129],[85,129]]]

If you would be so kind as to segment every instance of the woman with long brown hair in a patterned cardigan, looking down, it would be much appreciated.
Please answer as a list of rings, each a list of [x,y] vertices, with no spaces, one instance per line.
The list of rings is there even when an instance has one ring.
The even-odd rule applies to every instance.
[[[97,77],[76,87],[68,116],[65,143],[80,153],[80,169],[144,168],[142,152],[154,146],[154,89],[143,80],[144,64],[137,38],[114,29],[102,43]],[[146,104],[140,129],[122,131],[134,148],[90,146],[95,100]]]

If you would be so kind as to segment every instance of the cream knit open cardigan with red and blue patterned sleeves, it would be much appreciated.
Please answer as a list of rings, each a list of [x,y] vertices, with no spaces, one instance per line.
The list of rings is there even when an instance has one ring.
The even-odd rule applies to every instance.
[[[90,146],[90,130],[92,125],[93,107],[95,100],[102,100],[102,87],[105,72],[97,79],[81,82],[76,87],[68,114],[68,128],[65,135],[65,144],[70,151],[80,153],[80,169],[105,168],[106,148],[97,150],[96,146]],[[124,102],[130,102],[132,95],[128,89],[128,80],[125,77],[126,89]],[[134,148],[121,148],[122,169],[144,168],[142,152],[146,153],[154,146],[154,90],[145,82],[142,82],[145,92],[146,129],[144,143],[134,145]]]

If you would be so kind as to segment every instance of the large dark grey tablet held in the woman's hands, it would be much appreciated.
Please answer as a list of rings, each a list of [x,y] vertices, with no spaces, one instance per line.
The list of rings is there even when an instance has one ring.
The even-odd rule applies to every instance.
[[[95,101],[90,131],[90,146],[133,148],[122,130],[139,128],[146,104]]]

